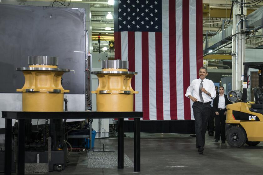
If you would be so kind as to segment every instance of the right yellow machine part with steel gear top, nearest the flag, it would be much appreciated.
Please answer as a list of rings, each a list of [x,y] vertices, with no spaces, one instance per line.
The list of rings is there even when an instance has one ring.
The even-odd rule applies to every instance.
[[[95,91],[97,111],[133,111],[133,94],[138,93],[131,87],[131,78],[136,72],[129,72],[128,62],[109,60],[102,62],[102,71],[92,72],[99,79]]]

